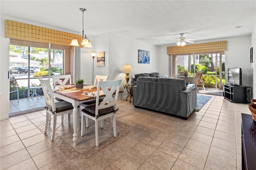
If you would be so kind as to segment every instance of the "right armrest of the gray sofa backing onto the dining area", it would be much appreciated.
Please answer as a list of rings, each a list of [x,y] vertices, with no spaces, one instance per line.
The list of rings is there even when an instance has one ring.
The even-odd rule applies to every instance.
[[[188,87],[180,92],[180,116],[188,117],[197,107],[197,90],[195,87]]]

